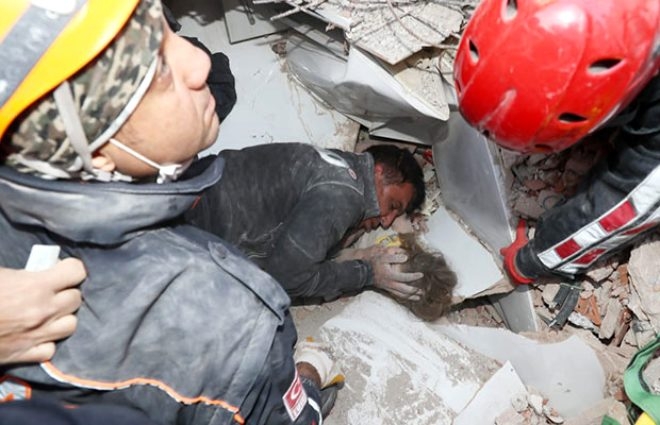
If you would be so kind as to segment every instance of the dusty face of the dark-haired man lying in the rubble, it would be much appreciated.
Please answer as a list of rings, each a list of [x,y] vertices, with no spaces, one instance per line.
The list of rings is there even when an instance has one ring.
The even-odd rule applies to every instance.
[[[406,211],[415,193],[411,183],[386,184],[383,170],[379,165],[376,165],[374,172],[380,215],[362,221],[360,228],[367,232],[378,226],[389,228],[394,219]]]

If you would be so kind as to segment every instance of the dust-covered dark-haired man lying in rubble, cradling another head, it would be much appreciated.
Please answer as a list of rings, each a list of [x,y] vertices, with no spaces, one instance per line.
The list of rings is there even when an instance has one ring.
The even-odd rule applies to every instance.
[[[186,213],[194,225],[234,244],[295,301],[331,300],[376,287],[418,299],[418,272],[395,271],[399,248],[332,257],[352,233],[389,227],[425,197],[414,156],[393,145],[365,153],[276,143],[219,154],[223,178]]]

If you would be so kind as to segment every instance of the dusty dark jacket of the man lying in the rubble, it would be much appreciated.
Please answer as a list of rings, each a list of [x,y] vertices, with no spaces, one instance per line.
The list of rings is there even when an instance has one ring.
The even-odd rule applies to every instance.
[[[239,247],[292,298],[333,299],[372,284],[363,261],[331,261],[364,218],[379,215],[369,154],[277,143],[220,153],[222,180],[186,218]]]

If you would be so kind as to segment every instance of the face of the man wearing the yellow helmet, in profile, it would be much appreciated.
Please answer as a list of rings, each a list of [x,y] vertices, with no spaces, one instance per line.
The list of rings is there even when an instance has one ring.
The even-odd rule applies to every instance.
[[[114,136],[162,165],[181,164],[209,147],[218,135],[215,100],[206,85],[210,59],[164,24],[160,63],[154,80],[126,124]],[[107,161],[134,177],[157,170],[110,143],[99,149]],[[97,159],[97,158],[95,158]]]

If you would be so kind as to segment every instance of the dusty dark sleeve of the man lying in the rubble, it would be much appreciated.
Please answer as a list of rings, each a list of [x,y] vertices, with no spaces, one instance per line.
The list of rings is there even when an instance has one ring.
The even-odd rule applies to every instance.
[[[372,284],[371,266],[364,261],[332,261],[331,248],[362,219],[363,197],[339,184],[317,186],[300,199],[263,263],[297,299],[331,300]]]

